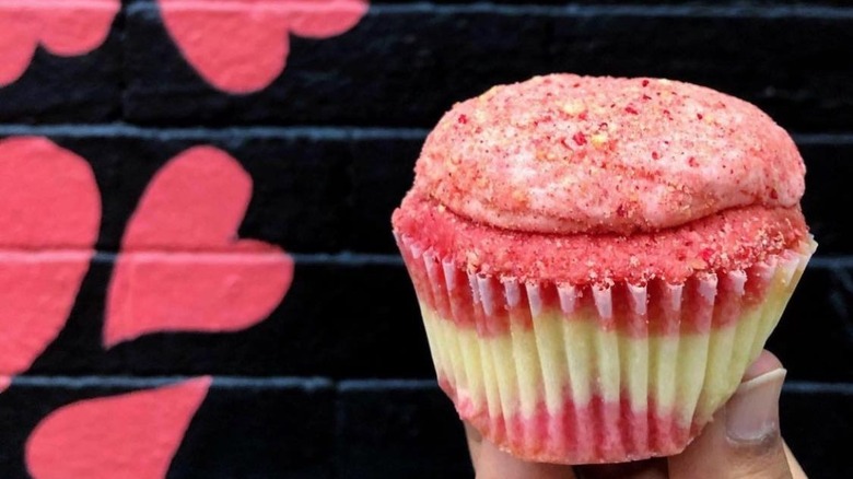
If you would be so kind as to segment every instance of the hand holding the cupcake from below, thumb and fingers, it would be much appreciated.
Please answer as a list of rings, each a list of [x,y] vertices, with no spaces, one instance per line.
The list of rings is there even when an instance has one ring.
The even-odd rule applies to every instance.
[[[805,479],[779,432],[779,395],[785,370],[764,351],[744,382],[687,449],[636,463],[560,466],[524,463],[465,425],[477,479]]]

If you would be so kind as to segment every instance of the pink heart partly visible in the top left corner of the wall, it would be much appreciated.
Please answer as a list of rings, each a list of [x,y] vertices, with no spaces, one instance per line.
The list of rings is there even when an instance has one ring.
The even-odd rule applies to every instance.
[[[119,0],[11,0],[0,5],[0,86],[17,80],[36,46],[60,56],[86,54],[104,43]]]

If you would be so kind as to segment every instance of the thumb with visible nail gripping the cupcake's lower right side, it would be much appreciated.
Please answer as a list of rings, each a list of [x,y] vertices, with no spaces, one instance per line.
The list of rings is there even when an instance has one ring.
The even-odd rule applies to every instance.
[[[762,353],[714,421],[683,453],[669,459],[669,477],[791,478],[779,433],[779,395],[784,378],[779,360]]]

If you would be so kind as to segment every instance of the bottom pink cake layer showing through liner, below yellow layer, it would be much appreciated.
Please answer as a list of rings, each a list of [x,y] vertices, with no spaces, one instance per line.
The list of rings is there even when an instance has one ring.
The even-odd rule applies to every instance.
[[[683,451],[702,429],[701,424],[680,423],[676,413],[662,414],[653,402],[636,411],[627,395],[618,401],[596,395],[587,404],[575,405],[566,394],[558,412],[549,412],[540,401],[529,417],[492,417],[459,398],[449,382],[440,378],[439,385],[460,418],[502,449],[531,462],[621,463],[669,456]]]

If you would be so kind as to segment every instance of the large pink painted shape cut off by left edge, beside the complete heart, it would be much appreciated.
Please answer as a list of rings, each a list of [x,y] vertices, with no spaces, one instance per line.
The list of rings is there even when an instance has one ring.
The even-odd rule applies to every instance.
[[[100,223],[85,160],[44,138],[0,141],[0,374],[25,371],[59,335]]]

